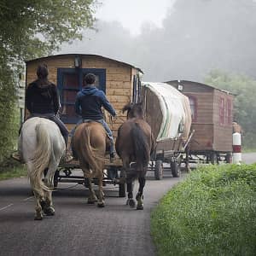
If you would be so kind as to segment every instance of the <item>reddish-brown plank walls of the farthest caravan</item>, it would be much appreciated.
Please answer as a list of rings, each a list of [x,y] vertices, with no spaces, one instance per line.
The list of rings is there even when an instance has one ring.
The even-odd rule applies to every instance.
[[[170,82],[177,88],[177,81]],[[191,150],[232,151],[232,120],[234,96],[205,84],[182,81],[183,94],[193,96],[197,103],[197,118],[192,121],[195,129]],[[220,98],[224,98],[224,125],[219,123]],[[227,100],[231,103],[231,121],[228,124]]]

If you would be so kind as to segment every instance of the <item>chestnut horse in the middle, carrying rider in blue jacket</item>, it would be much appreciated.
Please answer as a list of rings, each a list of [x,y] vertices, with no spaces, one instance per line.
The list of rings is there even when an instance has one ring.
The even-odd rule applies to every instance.
[[[90,191],[88,203],[93,204],[98,201],[98,207],[105,206],[102,180],[106,143],[109,143],[109,139],[105,129],[102,124],[94,121],[79,125],[73,136],[73,150],[78,156],[84,178],[88,180]],[[95,191],[91,187],[91,180],[94,177],[98,178],[98,200]]]

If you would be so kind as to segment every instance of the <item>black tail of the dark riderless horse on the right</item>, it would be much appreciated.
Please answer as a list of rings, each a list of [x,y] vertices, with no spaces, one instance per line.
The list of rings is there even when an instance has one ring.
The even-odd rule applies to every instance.
[[[142,170],[143,167],[148,166],[150,148],[148,147],[147,137],[137,123],[133,123],[132,125],[131,138],[135,150],[137,170]]]

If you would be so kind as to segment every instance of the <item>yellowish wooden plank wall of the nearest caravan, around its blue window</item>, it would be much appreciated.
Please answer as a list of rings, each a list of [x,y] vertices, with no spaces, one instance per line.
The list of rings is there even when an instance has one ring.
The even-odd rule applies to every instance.
[[[113,131],[114,137],[117,136],[117,130],[126,119],[126,114],[121,109],[132,100],[132,75],[137,73],[136,68],[132,68],[125,63],[113,61],[101,56],[81,55],[82,68],[105,68],[106,69],[106,95],[113,108],[118,113],[119,118],[112,122],[108,115],[108,125]],[[36,71],[40,63],[46,63],[49,67],[49,80],[57,84],[57,68],[74,68],[74,55],[60,55],[44,58],[43,60],[30,61],[26,65],[26,86],[37,79]],[[27,112],[26,112],[27,115]],[[67,124],[71,130],[73,124]]]

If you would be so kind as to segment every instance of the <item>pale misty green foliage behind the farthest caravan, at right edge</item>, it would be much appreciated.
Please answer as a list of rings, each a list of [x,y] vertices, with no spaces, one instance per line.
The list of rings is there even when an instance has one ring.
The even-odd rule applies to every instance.
[[[205,82],[235,94],[234,119],[242,127],[242,143],[246,148],[256,148],[256,80],[212,70]]]

